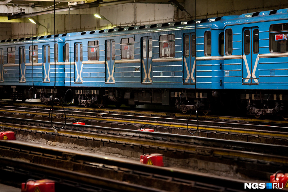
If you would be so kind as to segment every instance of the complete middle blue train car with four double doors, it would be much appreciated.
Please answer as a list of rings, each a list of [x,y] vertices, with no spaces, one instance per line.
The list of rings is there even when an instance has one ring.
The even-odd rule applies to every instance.
[[[223,89],[225,16],[79,32],[65,39],[65,83],[80,104],[176,105],[209,110]],[[196,82],[196,83],[195,83]],[[107,100],[107,98],[109,100]]]

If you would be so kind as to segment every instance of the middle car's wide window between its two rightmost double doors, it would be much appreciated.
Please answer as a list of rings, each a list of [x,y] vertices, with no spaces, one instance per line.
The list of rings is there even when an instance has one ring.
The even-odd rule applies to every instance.
[[[175,36],[160,35],[159,37],[159,56],[160,58],[175,57]]]

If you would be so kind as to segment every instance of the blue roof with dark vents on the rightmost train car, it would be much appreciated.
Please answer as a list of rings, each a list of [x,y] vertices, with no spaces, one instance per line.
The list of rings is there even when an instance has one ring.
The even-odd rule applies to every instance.
[[[255,22],[265,22],[267,20],[284,20],[284,19],[288,19],[288,8],[245,13],[237,18],[227,20],[224,24],[224,27],[244,23],[247,24],[252,22],[255,23]]]

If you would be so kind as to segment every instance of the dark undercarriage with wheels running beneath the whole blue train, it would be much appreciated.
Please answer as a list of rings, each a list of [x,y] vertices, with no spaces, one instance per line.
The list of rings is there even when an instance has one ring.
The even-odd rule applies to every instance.
[[[280,115],[288,119],[288,93],[271,90],[185,90],[185,89],[122,89],[122,88],[71,88],[1,86],[1,99],[25,101],[33,98],[51,103],[59,98],[65,104],[80,104],[85,107],[125,104],[134,107],[141,104],[175,106],[175,109],[202,111],[203,114],[217,111],[241,111],[249,115]],[[280,94],[281,93],[281,94]],[[285,92],[284,92],[285,93]],[[57,102],[57,104],[60,104]]]

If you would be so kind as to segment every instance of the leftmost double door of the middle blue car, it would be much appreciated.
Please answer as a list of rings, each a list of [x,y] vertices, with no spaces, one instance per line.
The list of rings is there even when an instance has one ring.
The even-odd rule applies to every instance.
[[[83,49],[82,43],[78,42],[74,44],[74,62],[75,62],[75,71],[74,71],[74,79],[75,83],[82,83],[82,60],[83,60]]]

